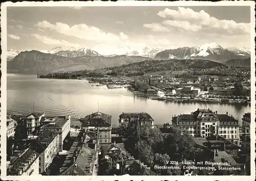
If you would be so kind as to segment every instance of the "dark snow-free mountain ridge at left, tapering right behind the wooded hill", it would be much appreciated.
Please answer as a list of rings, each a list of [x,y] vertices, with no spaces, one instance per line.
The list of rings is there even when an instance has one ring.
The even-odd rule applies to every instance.
[[[151,58],[140,56],[82,56],[64,57],[56,54],[46,54],[40,51],[22,51],[13,60],[7,62],[8,73],[49,73],[52,71],[75,71],[83,69],[100,69],[120,66]]]

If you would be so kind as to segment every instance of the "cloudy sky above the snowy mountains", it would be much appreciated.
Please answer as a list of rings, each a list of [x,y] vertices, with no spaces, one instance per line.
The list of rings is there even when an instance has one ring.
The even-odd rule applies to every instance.
[[[7,48],[88,47],[99,54],[217,42],[250,47],[249,6],[8,7]]]

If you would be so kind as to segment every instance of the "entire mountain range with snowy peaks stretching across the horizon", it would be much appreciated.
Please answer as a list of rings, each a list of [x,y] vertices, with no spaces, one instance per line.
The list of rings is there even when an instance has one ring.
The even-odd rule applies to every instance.
[[[82,69],[99,69],[126,65],[144,60],[200,59],[211,60],[228,65],[248,66],[250,51],[247,48],[223,48],[218,43],[207,43],[196,47],[177,49],[143,48],[133,50],[125,55],[104,56],[90,48],[55,47],[50,51],[18,51],[7,52],[7,70],[9,73],[48,73],[51,71],[75,71]],[[238,61],[233,61],[238,60]]]

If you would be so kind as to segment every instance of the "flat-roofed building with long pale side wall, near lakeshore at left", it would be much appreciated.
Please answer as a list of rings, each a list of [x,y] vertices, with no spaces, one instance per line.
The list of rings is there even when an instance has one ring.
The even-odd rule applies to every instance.
[[[70,133],[70,116],[49,116],[40,120],[40,131],[50,130],[59,134],[59,151],[62,151],[63,141]]]

